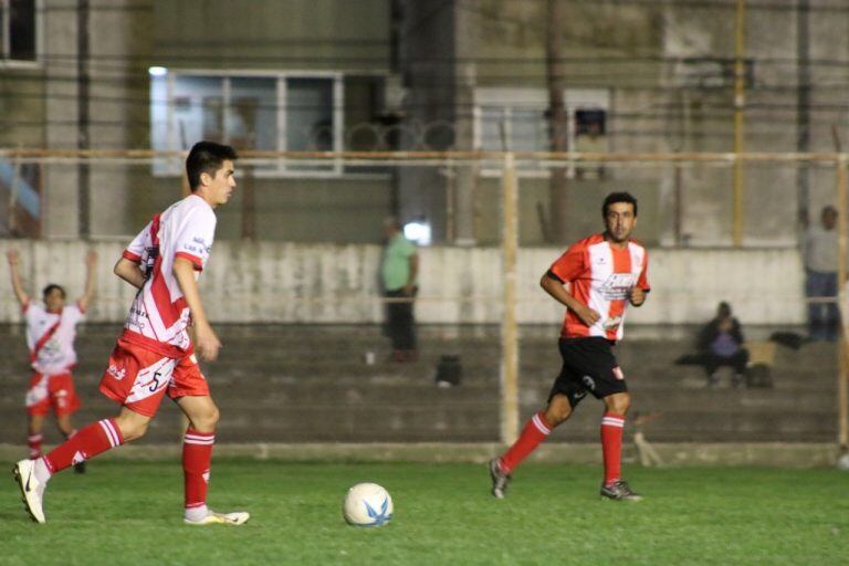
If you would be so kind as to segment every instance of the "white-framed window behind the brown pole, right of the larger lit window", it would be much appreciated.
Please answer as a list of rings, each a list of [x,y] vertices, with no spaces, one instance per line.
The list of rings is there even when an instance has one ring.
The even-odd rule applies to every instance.
[[[566,147],[577,151],[606,151],[610,92],[606,88],[568,88]],[[548,151],[552,147],[544,88],[478,88],[475,91],[475,146],[489,151]],[[523,164],[522,169],[535,169]],[[584,175],[570,170],[570,175]],[[589,171],[587,171],[589,172]],[[600,171],[591,172],[601,175]]]

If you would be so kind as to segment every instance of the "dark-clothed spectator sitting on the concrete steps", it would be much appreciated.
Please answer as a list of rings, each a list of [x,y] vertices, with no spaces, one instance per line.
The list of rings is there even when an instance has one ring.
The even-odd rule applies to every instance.
[[[745,384],[748,350],[743,347],[743,342],[740,321],[732,316],[731,305],[723,301],[716,307],[716,316],[702,328],[699,335],[699,347],[704,356],[709,386],[719,385],[717,370],[722,366],[734,368],[732,379],[734,387]]]

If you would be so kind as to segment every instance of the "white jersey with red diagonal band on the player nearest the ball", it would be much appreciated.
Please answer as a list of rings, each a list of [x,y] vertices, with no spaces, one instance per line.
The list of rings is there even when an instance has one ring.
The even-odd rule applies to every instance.
[[[124,258],[142,264],[146,281],[129,308],[125,339],[169,357],[191,352],[189,306],[174,276],[174,260],[191,261],[197,279],[209,260],[216,221],[212,207],[190,195],[155,216],[127,247]]]

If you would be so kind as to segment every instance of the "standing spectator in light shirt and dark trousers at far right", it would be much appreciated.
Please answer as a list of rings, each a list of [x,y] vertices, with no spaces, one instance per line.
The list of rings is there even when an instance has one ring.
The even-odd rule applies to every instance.
[[[811,339],[834,342],[840,324],[837,308],[839,253],[837,209],[822,209],[820,223],[805,232],[805,296],[808,298],[808,334]],[[821,301],[826,302],[821,302]],[[820,301],[820,302],[816,302]]]

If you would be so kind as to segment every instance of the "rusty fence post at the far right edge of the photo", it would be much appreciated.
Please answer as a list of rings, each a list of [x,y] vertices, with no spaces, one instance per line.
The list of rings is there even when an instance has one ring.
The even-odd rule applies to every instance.
[[[837,301],[840,315],[840,347],[838,348],[838,442],[842,450],[849,449],[849,334],[846,317],[846,251],[847,251],[847,155],[840,154],[837,161],[837,208],[838,242],[837,256]]]

